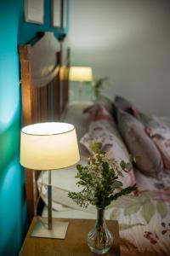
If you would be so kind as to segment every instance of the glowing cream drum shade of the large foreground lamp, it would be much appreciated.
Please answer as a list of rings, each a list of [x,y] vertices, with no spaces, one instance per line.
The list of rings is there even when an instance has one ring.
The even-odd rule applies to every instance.
[[[20,165],[32,170],[54,170],[80,160],[77,134],[73,125],[39,123],[21,130]]]

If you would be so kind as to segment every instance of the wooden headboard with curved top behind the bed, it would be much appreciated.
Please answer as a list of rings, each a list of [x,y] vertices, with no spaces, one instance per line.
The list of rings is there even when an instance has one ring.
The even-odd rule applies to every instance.
[[[68,103],[70,50],[52,32],[37,34],[37,38],[35,44],[20,46],[23,126],[59,121]],[[29,222],[37,213],[38,174],[26,170]]]

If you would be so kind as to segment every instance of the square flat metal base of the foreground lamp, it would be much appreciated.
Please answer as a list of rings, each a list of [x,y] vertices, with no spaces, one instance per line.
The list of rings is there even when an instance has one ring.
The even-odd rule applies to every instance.
[[[35,225],[31,236],[65,239],[68,225],[68,222],[54,220],[52,230],[48,230],[47,218],[37,218],[37,224]]]

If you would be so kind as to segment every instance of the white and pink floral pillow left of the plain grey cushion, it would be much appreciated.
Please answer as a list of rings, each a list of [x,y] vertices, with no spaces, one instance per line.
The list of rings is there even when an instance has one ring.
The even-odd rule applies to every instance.
[[[101,106],[98,108],[98,111],[99,113],[93,114],[95,119],[90,123],[88,132],[82,137],[80,143],[91,153],[91,143],[94,141],[100,142],[110,159],[115,158],[118,162],[121,160],[128,161],[129,154],[127,148],[122,142],[122,138],[116,129],[116,124],[111,118],[110,113],[104,107],[101,108]],[[96,119],[96,117],[98,118]],[[123,172],[123,177],[119,177],[119,180],[122,182],[123,188],[133,185],[135,183],[133,168],[129,172]]]

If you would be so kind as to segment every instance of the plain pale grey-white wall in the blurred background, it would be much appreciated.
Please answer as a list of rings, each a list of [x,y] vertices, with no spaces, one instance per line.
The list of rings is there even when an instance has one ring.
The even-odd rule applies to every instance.
[[[71,65],[109,76],[106,95],[170,116],[169,0],[71,0],[70,44]]]

